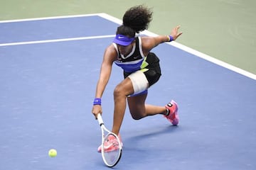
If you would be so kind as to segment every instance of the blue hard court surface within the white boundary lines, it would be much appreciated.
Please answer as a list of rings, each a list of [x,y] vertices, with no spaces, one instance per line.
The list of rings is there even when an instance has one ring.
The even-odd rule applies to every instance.
[[[97,153],[101,133],[91,109],[102,55],[118,25],[102,13],[0,22],[0,169],[109,169]],[[146,102],[174,99],[181,121],[132,120],[127,109],[114,169],[256,169],[255,75],[175,42],[153,52],[162,77]],[[121,80],[113,65],[102,97],[107,128]],[[51,148],[57,157],[48,157]]]

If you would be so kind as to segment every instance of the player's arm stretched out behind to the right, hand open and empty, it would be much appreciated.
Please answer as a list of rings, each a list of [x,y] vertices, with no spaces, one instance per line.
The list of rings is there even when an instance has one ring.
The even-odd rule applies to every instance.
[[[181,26],[176,26],[171,30],[171,34],[169,35],[158,35],[156,37],[143,37],[142,38],[142,48],[144,53],[148,53],[151,49],[156,47],[157,45],[163,43],[163,42],[170,42],[172,40],[176,40],[182,32],[178,32],[178,29]]]

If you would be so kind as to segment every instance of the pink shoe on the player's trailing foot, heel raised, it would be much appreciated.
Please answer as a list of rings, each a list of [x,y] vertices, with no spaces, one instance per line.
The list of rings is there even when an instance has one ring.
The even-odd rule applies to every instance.
[[[169,110],[169,114],[164,115],[164,117],[173,125],[178,125],[178,104],[172,100],[165,107]]]

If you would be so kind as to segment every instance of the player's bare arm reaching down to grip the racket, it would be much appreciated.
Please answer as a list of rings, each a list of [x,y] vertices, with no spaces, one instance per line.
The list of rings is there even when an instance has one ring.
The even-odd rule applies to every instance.
[[[107,82],[110,79],[112,64],[116,59],[117,51],[115,50],[114,45],[108,46],[105,50],[102,64],[100,67],[100,77],[97,81],[95,98],[102,98],[103,92],[105,91],[105,87],[107,86]],[[101,105],[94,105],[92,107],[92,114],[95,115],[95,118],[98,113],[102,113],[102,107]]]

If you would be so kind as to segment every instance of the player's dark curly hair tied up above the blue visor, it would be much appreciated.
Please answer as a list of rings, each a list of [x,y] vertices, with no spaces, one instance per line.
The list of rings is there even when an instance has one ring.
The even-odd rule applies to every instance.
[[[146,6],[139,5],[129,8],[122,18],[123,25],[117,28],[117,34],[134,37],[135,33],[149,28],[153,11]]]

